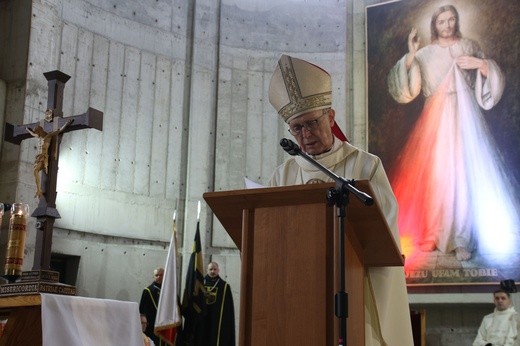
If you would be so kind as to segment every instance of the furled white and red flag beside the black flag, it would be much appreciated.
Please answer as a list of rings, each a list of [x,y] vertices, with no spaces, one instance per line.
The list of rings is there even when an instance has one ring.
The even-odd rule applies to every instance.
[[[164,267],[164,277],[157,306],[154,333],[168,345],[175,344],[177,327],[181,325],[181,312],[177,292],[177,228],[173,222],[173,233]]]

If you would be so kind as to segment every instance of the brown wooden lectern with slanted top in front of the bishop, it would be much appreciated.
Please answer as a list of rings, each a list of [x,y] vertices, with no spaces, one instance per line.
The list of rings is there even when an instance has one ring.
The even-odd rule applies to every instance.
[[[356,188],[374,196],[367,181]],[[204,199],[241,251],[239,345],[337,345],[338,218],[334,184],[208,192]],[[346,217],[347,345],[364,343],[364,276],[403,258],[376,201],[350,197]]]

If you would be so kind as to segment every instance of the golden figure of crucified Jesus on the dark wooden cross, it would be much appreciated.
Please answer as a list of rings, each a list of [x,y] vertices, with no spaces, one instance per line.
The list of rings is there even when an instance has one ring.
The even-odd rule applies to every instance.
[[[40,171],[45,170],[45,174],[48,172],[49,167],[49,148],[52,143],[52,138],[54,136],[58,136],[67,126],[69,126],[73,122],[73,119],[67,121],[62,127],[57,129],[56,131],[52,131],[47,133],[42,126],[38,125],[34,129],[30,129],[26,127],[27,132],[31,134],[33,137],[37,137],[40,139],[40,148],[38,154],[36,155],[34,161],[34,180],[36,181],[36,195],[34,197],[41,197],[43,195],[43,191],[40,183]],[[54,158],[58,157],[58,146],[56,144],[54,151]]]

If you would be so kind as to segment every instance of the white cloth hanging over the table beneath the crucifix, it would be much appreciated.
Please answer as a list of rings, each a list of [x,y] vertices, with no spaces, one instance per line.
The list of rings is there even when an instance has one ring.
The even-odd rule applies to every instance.
[[[43,346],[143,346],[136,302],[41,294]]]

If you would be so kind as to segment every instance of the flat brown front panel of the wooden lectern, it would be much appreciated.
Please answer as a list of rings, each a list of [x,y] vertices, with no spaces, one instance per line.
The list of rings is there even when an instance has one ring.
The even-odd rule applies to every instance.
[[[321,213],[316,210],[322,209]],[[330,345],[332,213],[323,204],[257,208],[244,231],[241,345]],[[268,230],[258,231],[258,230]],[[247,304],[249,302],[249,304]],[[242,323],[243,322],[243,323]]]

